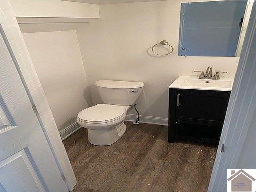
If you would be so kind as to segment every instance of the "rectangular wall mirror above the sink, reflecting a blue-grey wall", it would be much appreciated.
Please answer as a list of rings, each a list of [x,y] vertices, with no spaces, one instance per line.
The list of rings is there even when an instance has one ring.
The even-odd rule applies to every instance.
[[[178,56],[240,56],[253,1],[182,3]]]

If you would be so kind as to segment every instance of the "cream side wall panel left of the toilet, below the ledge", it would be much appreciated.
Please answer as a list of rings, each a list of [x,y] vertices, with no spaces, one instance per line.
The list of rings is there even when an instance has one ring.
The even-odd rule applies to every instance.
[[[32,62],[61,131],[90,103],[86,73],[74,30],[23,34]]]

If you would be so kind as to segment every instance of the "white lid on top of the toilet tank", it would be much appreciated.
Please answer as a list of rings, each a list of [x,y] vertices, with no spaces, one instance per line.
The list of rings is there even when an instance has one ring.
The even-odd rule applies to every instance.
[[[98,80],[95,82],[96,86],[116,89],[133,89],[144,87],[143,82],[133,81],[113,81],[113,80]]]

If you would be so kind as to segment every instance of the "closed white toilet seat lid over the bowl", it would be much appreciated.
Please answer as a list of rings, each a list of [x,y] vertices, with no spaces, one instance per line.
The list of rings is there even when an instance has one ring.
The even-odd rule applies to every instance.
[[[124,106],[97,104],[78,113],[82,121],[104,122],[116,120],[126,112]]]

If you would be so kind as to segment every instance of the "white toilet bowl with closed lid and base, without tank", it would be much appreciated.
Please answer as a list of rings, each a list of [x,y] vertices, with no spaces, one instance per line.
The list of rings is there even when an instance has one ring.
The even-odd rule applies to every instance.
[[[91,144],[111,145],[126,132],[124,119],[130,106],[97,104],[79,112],[77,122],[88,129]]]

